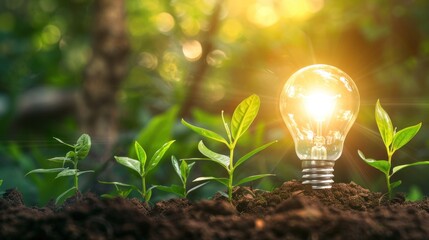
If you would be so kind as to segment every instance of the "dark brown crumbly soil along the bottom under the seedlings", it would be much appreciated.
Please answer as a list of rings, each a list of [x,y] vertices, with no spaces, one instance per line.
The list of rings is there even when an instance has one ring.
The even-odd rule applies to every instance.
[[[273,192],[236,188],[232,204],[221,195],[149,206],[86,194],[36,208],[8,190],[0,239],[429,239],[429,199],[387,201],[354,183],[314,191],[290,181]]]

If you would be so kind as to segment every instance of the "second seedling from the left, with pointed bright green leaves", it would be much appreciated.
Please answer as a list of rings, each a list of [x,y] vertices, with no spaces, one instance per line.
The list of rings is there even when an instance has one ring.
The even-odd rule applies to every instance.
[[[170,148],[171,144],[173,144],[174,140],[169,141],[162,145],[161,148],[159,148],[152,158],[149,161],[147,160],[146,151],[143,149],[143,147],[136,141],[134,143],[134,148],[137,154],[137,159],[132,159],[129,157],[118,157],[115,156],[116,162],[131,169],[132,171],[136,172],[141,180],[141,188],[138,188],[135,185],[132,184],[126,184],[121,182],[103,182],[100,181],[100,183],[103,184],[111,184],[114,185],[117,189],[118,196],[121,197],[127,197],[128,194],[132,192],[132,190],[136,190],[142,198],[145,200],[145,202],[149,202],[151,196],[152,196],[152,189],[156,186],[152,186],[150,188],[146,187],[146,177],[149,172],[151,172],[153,169],[158,166],[159,162],[161,161],[162,157],[164,156],[165,152]],[[125,189],[125,190],[123,190]],[[114,197],[114,195],[105,195],[105,197]]]

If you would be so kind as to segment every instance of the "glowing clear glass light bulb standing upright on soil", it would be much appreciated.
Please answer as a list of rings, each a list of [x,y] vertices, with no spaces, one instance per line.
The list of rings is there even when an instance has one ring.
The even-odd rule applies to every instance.
[[[334,164],[359,112],[359,91],[340,69],[316,64],[295,72],[280,95],[280,112],[302,163],[303,184],[331,188]]]

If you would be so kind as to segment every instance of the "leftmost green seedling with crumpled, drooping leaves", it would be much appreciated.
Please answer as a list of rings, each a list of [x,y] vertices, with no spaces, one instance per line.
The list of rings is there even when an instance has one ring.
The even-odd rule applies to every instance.
[[[94,171],[80,171],[78,169],[78,163],[88,156],[89,150],[91,149],[91,138],[88,134],[82,134],[74,145],[65,143],[58,138],[54,139],[61,144],[64,144],[73,149],[72,151],[67,152],[65,157],[54,157],[48,159],[48,161],[61,164],[61,167],[49,169],[35,169],[28,172],[26,175],[33,173],[58,173],[55,179],[60,177],[72,176],[74,183],[73,186],[56,198],[55,203],[58,203],[63,197],[67,196],[67,194],[72,191],[75,191],[76,195],[79,195],[79,176]]]

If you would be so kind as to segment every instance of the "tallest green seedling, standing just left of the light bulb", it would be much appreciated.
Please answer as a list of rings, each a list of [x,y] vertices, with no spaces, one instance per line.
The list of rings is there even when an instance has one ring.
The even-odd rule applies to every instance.
[[[222,111],[222,121],[225,128],[226,135],[228,139],[225,139],[221,135],[219,135],[216,132],[213,132],[208,129],[200,128],[197,126],[194,126],[185,120],[182,119],[182,123],[193,130],[194,132],[200,134],[203,137],[215,140],[217,142],[223,143],[227,146],[229,150],[229,156],[223,155],[220,153],[216,153],[206,147],[204,145],[203,141],[200,141],[198,144],[198,150],[207,158],[195,158],[194,160],[209,160],[212,162],[217,163],[218,165],[222,166],[228,173],[228,178],[220,178],[220,177],[214,177],[214,176],[208,176],[208,177],[199,177],[194,180],[194,182],[198,181],[217,181],[223,185],[225,185],[228,189],[228,195],[225,195],[230,201],[232,200],[232,189],[235,186],[242,185],[244,183],[254,181],[263,177],[267,176],[273,176],[274,174],[259,174],[259,175],[253,175],[248,176],[243,179],[240,179],[238,181],[234,181],[234,172],[237,169],[238,166],[246,162],[250,159],[253,155],[256,153],[264,150],[271,144],[277,142],[272,141],[270,143],[267,143],[263,146],[260,146],[251,152],[245,154],[241,158],[239,158],[237,161],[234,160],[235,158],[235,148],[237,146],[238,140],[241,136],[249,129],[250,125],[252,124],[253,120],[256,118],[260,106],[260,100],[257,95],[251,95],[250,97],[244,99],[234,110],[234,113],[232,115],[231,124],[228,124],[225,121],[225,118],[223,116]],[[222,193],[223,194],[223,193]]]

